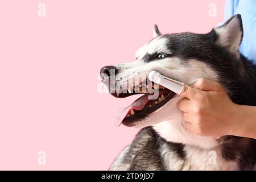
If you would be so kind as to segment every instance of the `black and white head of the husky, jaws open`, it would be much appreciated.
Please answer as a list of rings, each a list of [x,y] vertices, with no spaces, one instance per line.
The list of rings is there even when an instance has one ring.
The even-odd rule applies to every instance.
[[[136,61],[101,69],[102,80],[113,96],[144,94],[121,112],[119,123],[134,127],[154,126],[162,137],[172,142],[214,146],[213,138],[187,133],[176,108],[180,97],[161,85],[152,84],[147,76],[154,69],[188,85],[198,78],[223,82],[228,79],[226,72],[236,71],[242,34],[240,15],[233,16],[208,34],[162,35],[155,26],[154,38],[139,48]]]

